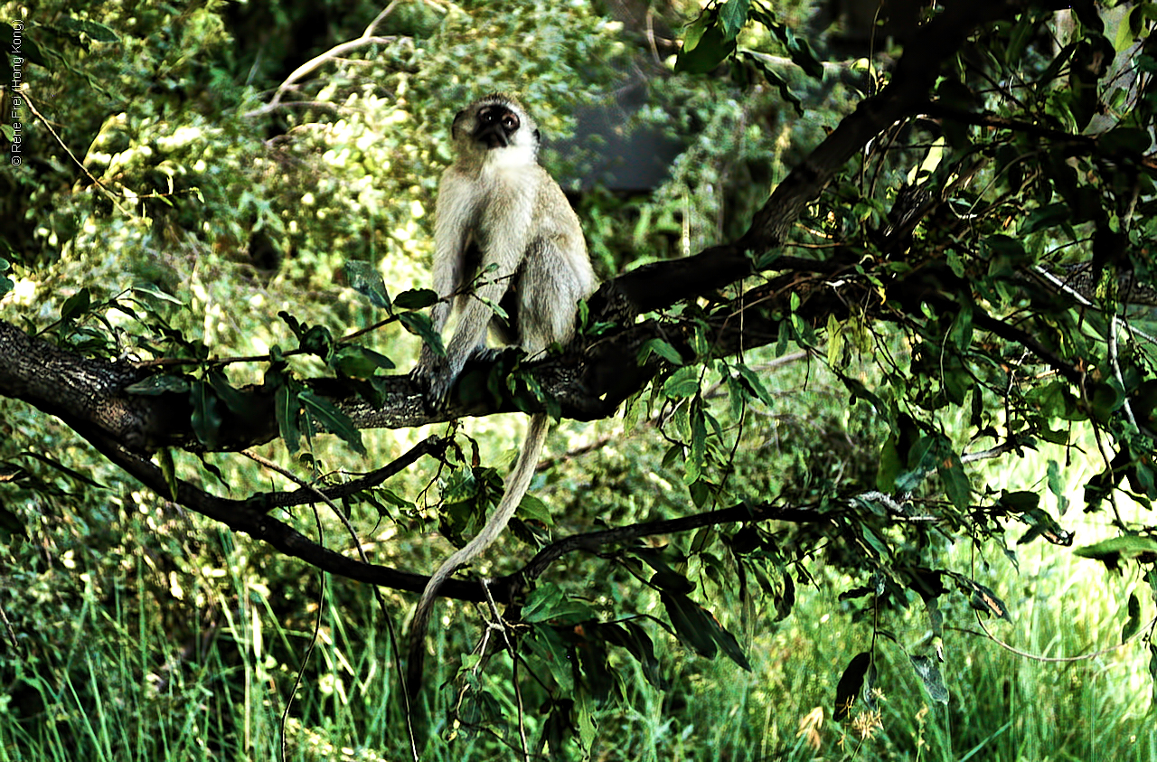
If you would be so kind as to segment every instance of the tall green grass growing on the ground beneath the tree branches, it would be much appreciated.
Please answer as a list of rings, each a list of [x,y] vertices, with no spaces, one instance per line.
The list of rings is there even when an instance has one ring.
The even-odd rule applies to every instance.
[[[986,622],[989,629],[1012,648],[1044,658],[1119,643],[1123,615],[1118,601],[1137,580],[1108,577],[1090,562],[1053,550],[1022,560],[1019,574],[1009,564],[990,570],[1015,617]],[[138,560],[133,584],[145,584],[143,565]],[[198,630],[192,646],[180,649],[145,597],[121,590],[110,600],[84,598],[59,660],[24,665],[20,690],[9,690],[0,706],[0,762],[277,759],[286,687],[301,668],[311,628],[304,621],[293,628],[280,623],[278,595],[252,578],[235,575],[230,584],[221,602],[233,606],[222,609],[213,628]],[[322,608],[318,645],[289,712],[287,756],[407,759],[388,628],[368,599],[364,611],[351,615],[345,584],[331,583]],[[591,757],[1157,760],[1142,643],[1082,660],[1031,659],[988,641],[963,604],[945,607],[946,706],[929,700],[905,651],[880,639],[878,713],[860,706],[855,722],[837,725],[831,719],[835,683],[850,657],[869,646],[870,630],[850,622],[833,594],[799,592],[784,622],[772,626],[756,617],[749,624],[750,673],[724,659],[690,657],[661,635],[661,658],[673,665],[669,691],[651,689],[629,663],[620,665],[628,675],[624,700],[599,711]],[[316,606],[310,615],[317,615]],[[362,616],[366,624],[355,626]],[[921,612],[894,614],[882,624],[909,650],[927,635]],[[281,663],[273,652],[296,653],[299,661]],[[430,693],[429,716],[437,717],[445,709],[444,694]],[[17,712],[14,701],[32,701],[42,710]],[[19,722],[17,715],[23,716]],[[513,713],[508,719],[513,727]],[[538,728],[531,723],[530,730],[533,738]],[[419,728],[434,734],[423,759],[514,757],[496,739],[510,728],[459,734],[452,743],[437,738],[447,731],[436,724]],[[580,759],[582,750],[558,754]]]

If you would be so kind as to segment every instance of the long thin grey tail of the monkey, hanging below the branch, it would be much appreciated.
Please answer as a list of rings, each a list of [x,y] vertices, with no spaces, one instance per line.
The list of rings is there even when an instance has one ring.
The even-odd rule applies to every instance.
[[[426,658],[426,627],[429,623],[439,589],[458,567],[485,553],[486,548],[491,547],[491,543],[502,534],[502,530],[510,523],[510,517],[514,516],[515,509],[522,502],[522,496],[526,494],[530,480],[535,475],[535,467],[538,465],[539,453],[543,452],[550,423],[551,420],[545,413],[536,413],[530,416],[530,427],[526,429],[526,439],[522,444],[518,463],[515,465],[514,473],[507,478],[506,493],[499,501],[494,516],[486,523],[482,531],[474,535],[474,539],[443,561],[429,582],[426,583],[426,590],[422,591],[422,597],[418,600],[418,608],[414,609],[414,617],[410,623],[406,690],[411,698],[418,695],[418,689],[421,687],[422,666]]]

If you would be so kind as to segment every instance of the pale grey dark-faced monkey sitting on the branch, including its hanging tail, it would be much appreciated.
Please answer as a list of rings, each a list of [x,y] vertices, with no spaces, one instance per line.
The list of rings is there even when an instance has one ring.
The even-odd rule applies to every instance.
[[[457,158],[439,184],[434,223],[434,289],[442,301],[433,306],[430,320],[442,331],[451,298],[459,318],[445,357],[425,346],[414,371],[434,404],[445,399],[470,357],[494,352],[486,348],[487,327],[528,355],[541,354],[570,340],[578,302],[597,286],[578,217],[538,164],[540,135],[525,108],[508,95],[488,95],[458,112],[451,138]],[[467,290],[476,276],[473,290]],[[499,318],[493,304],[509,319]],[[494,515],[427,583],[411,624],[411,694],[421,680],[422,642],[439,589],[506,528],[530,486],[548,423],[545,413],[531,416]]]

